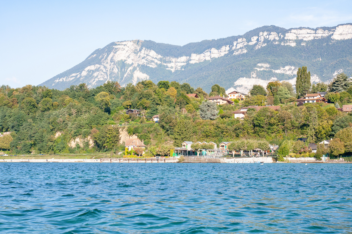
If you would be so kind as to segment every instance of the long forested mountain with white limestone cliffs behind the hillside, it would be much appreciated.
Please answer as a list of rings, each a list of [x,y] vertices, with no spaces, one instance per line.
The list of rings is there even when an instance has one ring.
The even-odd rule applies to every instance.
[[[312,82],[327,82],[351,74],[352,24],[319,28],[253,29],[240,36],[203,40],[184,46],[149,40],[112,42],[86,60],[40,85],[63,90],[108,80],[121,86],[141,80],[178,81],[209,92],[217,83],[228,91],[248,91],[253,84],[273,80],[295,83],[298,67],[307,66]]]

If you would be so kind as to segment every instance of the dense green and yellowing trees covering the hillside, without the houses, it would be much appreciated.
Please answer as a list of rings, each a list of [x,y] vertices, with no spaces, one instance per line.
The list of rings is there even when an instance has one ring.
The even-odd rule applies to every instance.
[[[310,91],[335,86],[321,83]],[[316,143],[334,138],[336,134],[339,139],[335,140],[335,145],[342,145],[343,152],[339,147],[340,151],[335,154],[352,151],[348,145],[352,142],[348,135],[352,116],[338,109],[338,105],[352,102],[352,87],[327,94],[337,108],[329,103],[297,106],[296,94],[288,82],[270,82],[265,88],[254,86],[252,96],[243,103],[236,100],[234,105],[216,106],[205,101],[208,94],[202,88],[194,89],[188,83],[176,81],[155,84],[146,80],[124,88],[108,81],[93,89],[82,83],[64,91],[45,86],[11,88],[2,85],[0,132],[11,134],[0,138],[0,148],[14,154],[123,152],[120,137],[125,129],[128,135],[136,134],[143,139],[154,155],[166,155],[168,149],[180,146],[184,140],[219,144],[241,139],[266,140],[292,153],[297,138],[308,137],[308,142]],[[213,85],[211,90],[211,95],[223,95],[225,89]],[[187,96],[190,93],[197,93],[198,98]],[[281,108],[278,111],[249,109],[244,120],[233,118],[232,112],[241,105],[268,103],[281,105]],[[126,114],[129,108],[139,109],[140,114]],[[150,121],[157,114],[159,122]],[[342,137],[341,132],[347,135]],[[77,138],[81,139],[81,144],[70,143]],[[301,148],[304,147],[303,144]]]

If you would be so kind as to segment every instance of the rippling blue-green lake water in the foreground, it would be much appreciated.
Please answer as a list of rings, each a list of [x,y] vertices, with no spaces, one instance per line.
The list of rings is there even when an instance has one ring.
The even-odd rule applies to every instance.
[[[0,233],[352,233],[352,164],[0,163]]]

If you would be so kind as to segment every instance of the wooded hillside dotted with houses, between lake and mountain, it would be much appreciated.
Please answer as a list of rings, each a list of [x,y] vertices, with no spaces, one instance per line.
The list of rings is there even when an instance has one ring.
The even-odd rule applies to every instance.
[[[113,152],[117,155],[339,157],[352,153],[352,82],[344,73],[310,82],[306,67],[289,82],[249,93],[208,94],[188,83],[108,81],[64,91],[0,88],[0,149],[8,154]]]

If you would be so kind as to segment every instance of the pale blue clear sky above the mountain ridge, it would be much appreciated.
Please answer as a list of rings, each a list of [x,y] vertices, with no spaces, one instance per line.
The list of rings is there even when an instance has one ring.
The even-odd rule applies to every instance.
[[[185,45],[283,28],[352,22],[352,1],[0,0],[0,85],[39,85],[113,41]]]

